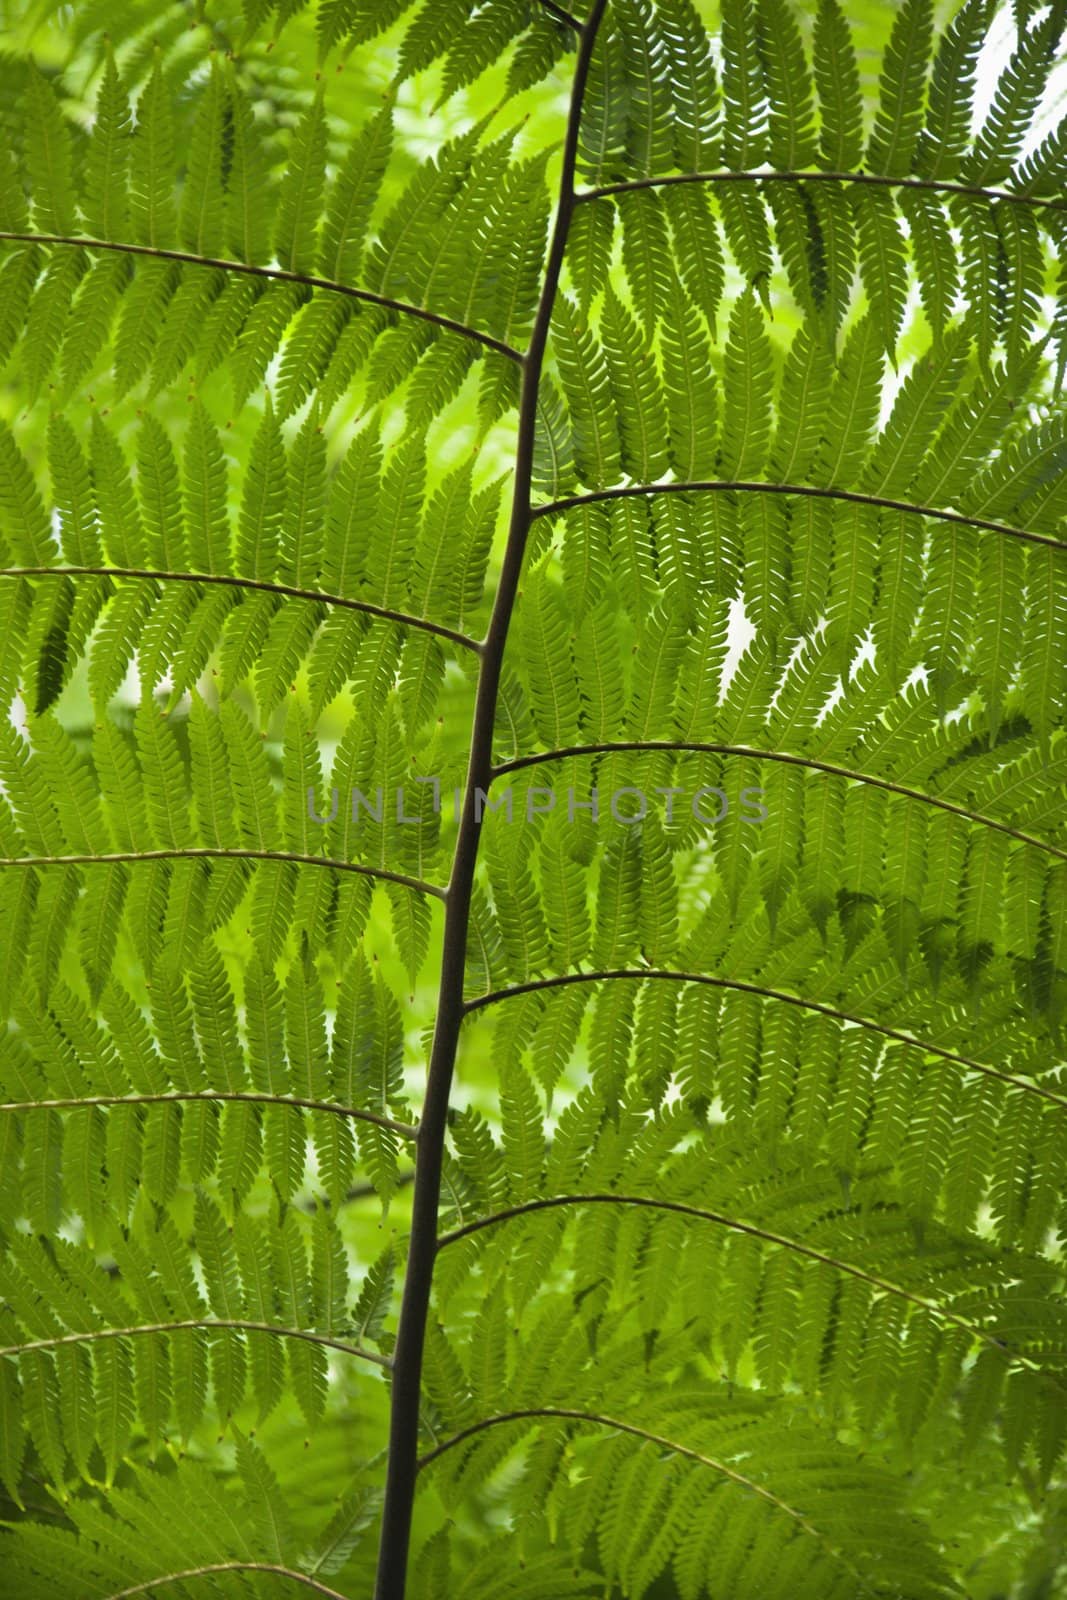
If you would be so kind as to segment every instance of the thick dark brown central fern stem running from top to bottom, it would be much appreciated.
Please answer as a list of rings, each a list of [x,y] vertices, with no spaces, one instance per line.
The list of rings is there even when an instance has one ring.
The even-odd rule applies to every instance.
[[[545,259],[541,296],[530,336],[530,349],[523,360],[523,381],[518,400],[518,437],[515,446],[515,483],[507,542],[501,562],[501,576],[493,603],[493,614],[482,650],[482,667],[470,728],[470,758],[467,766],[467,790],[456,837],[453,872],[448,885],[445,910],[445,936],[442,950],[440,986],[437,994],[437,1019],[426,1082],[426,1099],[419,1118],[416,1141],[414,1195],[411,1200],[411,1240],[405,1272],[400,1323],[397,1328],[395,1381],[392,1384],[392,1411],[389,1427],[389,1467],[386,1475],[386,1502],[382,1507],[381,1546],[374,1600],[403,1600],[408,1571],[408,1546],[411,1541],[411,1512],[418,1477],[419,1451],[419,1394],[422,1378],[422,1346],[430,1306],[434,1258],[437,1254],[437,1210],[442,1190],[442,1165],[445,1133],[448,1126],[448,1096],[451,1091],[456,1050],[462,1030],[464,978],[467,965],[467,936],[470,926],[470,894],[478,861],[482,816],[477,790],[488,789],[493,776],[493,728],[496,702],[504,664],[507,630],[515,608],[522,576],[526,539],[533,522],[531,483],[534,461],[534,434],[537,421],[537,390],[544,365],[549,325],[563,267],[563,253],[574,213],[574,171],[577,163],[577,136],[585,96],[585,83],[592,64],[597,30],[606,0],[593,0],[589,21],[582,26],[577,43],[571,104],[563,141],[563,163],[555,224]]]

